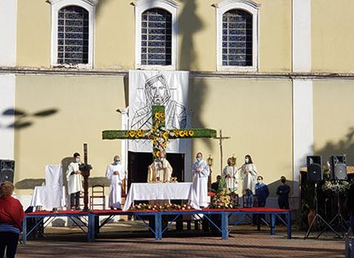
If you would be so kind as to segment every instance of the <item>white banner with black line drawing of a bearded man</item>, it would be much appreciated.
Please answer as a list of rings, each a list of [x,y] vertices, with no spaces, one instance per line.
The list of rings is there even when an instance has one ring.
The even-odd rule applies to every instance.
[[[189,72],[129,71],[130,130],[150,130],[152,105],[165,106],[167,129],[189,128]],[[167,152],[186,153],[190,140],[171,140]],[[151,152],[150,140],[129,140],[129,151]]]

